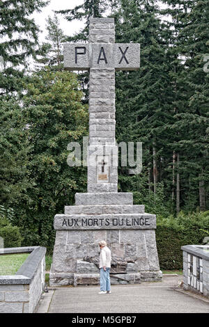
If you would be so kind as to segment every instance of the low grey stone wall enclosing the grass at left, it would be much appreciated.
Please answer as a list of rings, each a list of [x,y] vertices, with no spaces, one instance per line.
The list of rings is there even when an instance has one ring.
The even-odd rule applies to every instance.
[[[0,276],[0,313],[32,313],[45,288],[46,248],[3,248],[0,254],[31,252],[15,275]]]

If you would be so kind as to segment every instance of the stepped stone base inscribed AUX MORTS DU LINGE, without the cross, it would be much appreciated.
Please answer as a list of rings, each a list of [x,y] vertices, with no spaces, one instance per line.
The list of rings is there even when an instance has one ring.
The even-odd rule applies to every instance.
[[[56,240],[51,286],[100,284],[99,241],[111,249],[111,284],[162,278],[156,217],[133,205],[132,193],[77,193],[75,205],[54,217]]]

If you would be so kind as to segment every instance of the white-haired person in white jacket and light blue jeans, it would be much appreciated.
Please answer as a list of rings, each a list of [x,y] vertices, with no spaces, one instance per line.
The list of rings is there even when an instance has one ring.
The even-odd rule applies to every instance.
[[[107,248],[105,241],[100,241],[100,292],[99,294],[111,293],[109,271],[111,268],[111,250]]]

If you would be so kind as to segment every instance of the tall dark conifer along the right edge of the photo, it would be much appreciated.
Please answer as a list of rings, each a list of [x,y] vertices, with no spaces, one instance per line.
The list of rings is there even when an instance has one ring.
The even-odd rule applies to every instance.
[[[182,207],[206,209],[208,189],[208,1],[164,1],[171,6],[178,55],[176,74],[176,152],[180,157]],[[173,29],[174,31],[174,29]],[[180,95],[180,96],[179,96]],[[181,100],[180,100],[181,99]],[[179,172],[177,172],[178,177]]]

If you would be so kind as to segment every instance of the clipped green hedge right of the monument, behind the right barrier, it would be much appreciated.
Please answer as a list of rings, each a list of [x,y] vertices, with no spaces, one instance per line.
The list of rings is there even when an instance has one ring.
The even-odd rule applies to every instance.
[[[158,218],[156,230],[160,269],[183,269],[181,246],[202,244],[209,231],[209,212]]]

